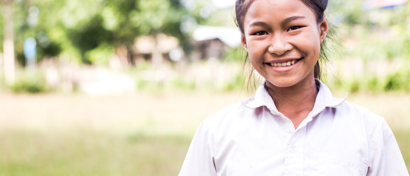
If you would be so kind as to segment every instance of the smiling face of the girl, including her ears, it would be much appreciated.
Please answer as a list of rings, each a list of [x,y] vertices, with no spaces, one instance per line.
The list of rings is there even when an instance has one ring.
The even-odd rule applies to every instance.
[[[254,0],[245,14],[242,45],[266,83],[290,87],[314,79],[328,25],[300,0]]]

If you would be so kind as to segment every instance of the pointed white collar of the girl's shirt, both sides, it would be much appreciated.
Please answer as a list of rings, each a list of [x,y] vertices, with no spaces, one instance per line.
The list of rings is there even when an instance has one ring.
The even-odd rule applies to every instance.
[[[324,109],[325,107],[337,107],[342,104],[347,98],[347,92],[344,98],[335,98],[332,96],[329,88],[323,84],[320,80],[315,78],[316,86],[319,88],[319,92],[316,96],[316,101],[314,103],[313,110]],[[272,97],[269,95],[268,91],[265,89],[265,82],[263,82],[257,89],[255,97],[248,98],[242,103],[251,109],[257,107],[266,106],[269,110],[278,112],[275,103],[273,103]],[[279,112],[278,112],[279,113]]]

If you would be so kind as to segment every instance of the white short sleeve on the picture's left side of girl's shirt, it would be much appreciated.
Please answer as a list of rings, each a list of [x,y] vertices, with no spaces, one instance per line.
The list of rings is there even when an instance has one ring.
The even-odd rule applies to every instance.
[[[214,165],[214,137],[207,119],[196,131],[179,176],[216,176]]]

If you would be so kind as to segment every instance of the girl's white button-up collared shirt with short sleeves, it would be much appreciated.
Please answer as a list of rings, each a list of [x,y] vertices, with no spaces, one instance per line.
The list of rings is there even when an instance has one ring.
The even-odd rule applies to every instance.
[[[207,117],[179,176],[408,176],[385,120],[316,82],[313,110],[296,130],[263,85]]]

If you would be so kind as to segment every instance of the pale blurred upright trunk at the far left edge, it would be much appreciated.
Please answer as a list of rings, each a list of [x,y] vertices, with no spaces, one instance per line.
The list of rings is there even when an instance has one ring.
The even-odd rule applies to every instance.
[[[13,40],[13,1],[6,2],[3,6],[4,16],[4,76],[7,85],[13,85],[15,80],[14,66],[14,40]]]

